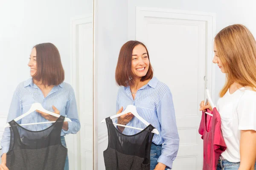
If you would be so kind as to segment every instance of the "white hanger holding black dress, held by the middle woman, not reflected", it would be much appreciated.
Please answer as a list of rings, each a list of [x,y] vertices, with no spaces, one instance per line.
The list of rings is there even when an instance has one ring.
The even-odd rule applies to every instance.
[[[137,113],[137,110],[136,110],[136,107],[134,105],[128,105],[125,109],[125,111],[123,111],[122,113],[119,113],[119,114],[116,114],[114,116],[111,116],[110,119],[115,119],[117,117],[120,117],[126,113],[132,113],[135,117],[137,117],[141,122],[143,122],[146,126],[150,125],[147,121],[145,121],[145,119],[143,119],[138,113]],[[106,120],[103,119],[101,121],[101,123],[105,123]],[[137,127],[132,127],[132,126],[126,126],[126,125],[120,125],[120,124],[117,124],[117,123],[113,123],[113,125],[117,125],[117,126],[122,126],[122,127],[129,127],[129,128],[132,128],[132,129],[137,129],[137,130],[143,130],[141,128],[137,128]],[[152,131],[152,133],[156,133],[157,135],[159,135],[159,131],[154,128]]]

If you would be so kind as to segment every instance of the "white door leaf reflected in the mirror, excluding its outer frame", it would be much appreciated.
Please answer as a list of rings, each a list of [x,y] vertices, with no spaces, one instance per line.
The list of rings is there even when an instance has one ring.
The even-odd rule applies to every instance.
[[[90,41],[90,42],[88,42]],[[93,170],[93,23],[79,26],[81,170]]]

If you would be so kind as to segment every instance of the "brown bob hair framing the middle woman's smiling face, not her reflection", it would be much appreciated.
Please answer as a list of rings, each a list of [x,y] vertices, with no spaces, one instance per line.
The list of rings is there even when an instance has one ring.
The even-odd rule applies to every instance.
[[[143,45],[147,51],[148,49],[146,46],[139,41],[128,41],[126,42],[119,52],[119,57],[116,65],[116,83],[119,86],[131,86],[134,84],[134,74],[131,71],[131,61],[132,61],[132,51],[135,46]],[[148,54],[149,60],[149,54]],[[150,64],[149,60],[149,67],[147,74],[140,79],[141,82],[152,79],[153,77],[153,68]]]

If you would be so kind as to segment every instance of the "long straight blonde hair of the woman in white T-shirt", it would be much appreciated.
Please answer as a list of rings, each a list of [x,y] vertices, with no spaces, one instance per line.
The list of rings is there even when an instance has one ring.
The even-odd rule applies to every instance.
[[[248,28],[241,24],[223,28],[215,36],[215,45],[226,72],[220,97],[233,82],[256,91],[256,41]]]

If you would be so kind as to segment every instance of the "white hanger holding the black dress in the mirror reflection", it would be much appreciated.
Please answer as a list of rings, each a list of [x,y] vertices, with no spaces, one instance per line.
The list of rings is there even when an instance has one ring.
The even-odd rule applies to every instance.
[[[23,117],[29,115],[30,113],[32,113],[33,111],[38,110],[38,111],[42,111],[44,113],[47,113],[49,115],[55,116],[55,117],[60,117],[61,115],[47,111],[43,108],[43,106],[41,105],[41,103],[33,103],[31,105],[31,108],[29,109],[28,112],[22,114],[21,116],[15,118],[15,122],[17,122],[18,120],[22,119]],[[38,113],[39,114],[39,113]],[[20,126],[24,126],[24,125],[37,125],[37,124],[45,124],[45,123],[54,123],[56,121],[51,121],[51,122],[38,122],[38,123],[28,123],[28,124],[21,124]],[[65,118],[64,122],[71,122],[71,120],[69,118]],[[4,127],[10,127],[9,123],[6,123],[6,125]]]

